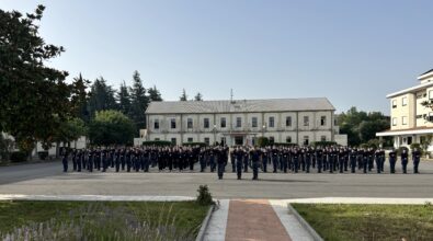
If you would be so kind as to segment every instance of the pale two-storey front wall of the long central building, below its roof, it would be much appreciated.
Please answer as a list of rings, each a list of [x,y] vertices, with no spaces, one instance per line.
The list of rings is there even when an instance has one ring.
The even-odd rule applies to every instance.
[[[304,117],[308,116],[308,125],[304,125]],[[323,123],[321,117],[324,117]],[[226,127],[221,127],[221,118],[226,118]],[[241,126],[237,127],[237,118],[241,118]],[[257,127],[252,127],[252,119],[257,118]],[[270,125],[270,117],[274,118],[274,126]],[[286,118],[290,120],[286,123]],[[252,145],[253,139],[265,136],[273,137],[275,142],[292,142],[303,145],[305,137],[308,142],[334,140],[334,125],[332,111],[318,112],[286,112],[286,113],[216,113],[216,114],[148,114],[147,140],[174,140],[178,145],[189,142],[209,144],[220,142],[221,138],[228,146],[235,145],[235,136],[243,136],[244,145]],[[209,119],[208,128],[204,128],[204,119]],[[155,122],[159,122],[159,129],[155,129]],[[175,119],[175,128],[171,128],[171,119]],[[192,119],[192,128],[187,128],[187,120]],[[286,125],[289,124],[289,125]]]

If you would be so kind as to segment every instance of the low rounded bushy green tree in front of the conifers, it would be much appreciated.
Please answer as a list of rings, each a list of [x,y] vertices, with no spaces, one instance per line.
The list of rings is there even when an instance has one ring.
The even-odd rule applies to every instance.
[[[89,137],[92,145],[132,145],[134,123],[118,111],[100,111],[89,126]]]

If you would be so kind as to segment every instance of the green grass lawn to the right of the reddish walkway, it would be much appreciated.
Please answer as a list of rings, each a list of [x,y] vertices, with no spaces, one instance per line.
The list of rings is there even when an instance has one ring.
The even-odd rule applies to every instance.
[[[433,206],[292,204],[324,240],[433,240]]]

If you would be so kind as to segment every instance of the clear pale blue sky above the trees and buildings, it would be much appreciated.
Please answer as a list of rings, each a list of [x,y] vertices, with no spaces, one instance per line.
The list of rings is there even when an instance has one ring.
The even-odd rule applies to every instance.
[[[433,68],[431,0],[0,0],[46,10],[47,62],[118,89],[141,74],[166,101],[328,97],[389,114],[386,94]]]

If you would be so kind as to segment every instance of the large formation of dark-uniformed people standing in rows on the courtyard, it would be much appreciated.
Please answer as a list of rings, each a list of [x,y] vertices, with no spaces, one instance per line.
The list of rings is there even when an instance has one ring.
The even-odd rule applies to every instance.
[[[388,153],[389,172],[396,173],[396,164],[400,156],[402,173],[407,173],[410,156],[403,149],[401,153],[391,150]],[[218,179],[230,168],[238,179],[252,169],[253,180],[262,172],[375,172],[385,171],[386,154],[384,149],[346,148],[346,147],[275,147],[265,148],[237,146],[228,147],[141,147],[141,148],[90,148],[62,151],[64,172],[68,171],[68,160],[72,161],[73,171],[94,170],[106,172],[149,172],[151,168],[162,171],[194,171],[198,163],[200,172],[209,169],[217,172]],[[411,152],[413,173],[419,173],[421,152]],[[229,164],[230,160],[230,164]],[[229,165],[229,167],[227,167]]]

